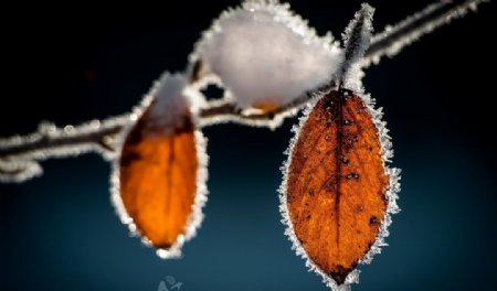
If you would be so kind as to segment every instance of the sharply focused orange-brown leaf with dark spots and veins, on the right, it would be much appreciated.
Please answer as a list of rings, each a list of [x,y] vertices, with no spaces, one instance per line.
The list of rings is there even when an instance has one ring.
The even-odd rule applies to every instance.
[[[364,101],[332,90],[300,129],[284,192],[296,239],[338,284],[377,240],[388,190],[378,129]]]

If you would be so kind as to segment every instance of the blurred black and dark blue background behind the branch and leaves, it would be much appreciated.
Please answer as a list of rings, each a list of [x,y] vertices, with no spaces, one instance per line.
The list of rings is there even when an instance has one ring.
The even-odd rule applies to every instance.
[[[128,111],[161,72],[182,71],[200,33],[237,2],[2,9],[14,21],[0,29],[0,136],[32,132],[41,120],[63,126]],[[370,1],[374,26],[429,2]],[[319,34],[338,37],[359,7],[292,1]],[[367,71],[366,88],[393,138],[393,165],[403,171],[402,212],[390,246],[360,267],[353,290],[495,290],[491,17],[495,4],[484,4]],[[275,131],[205,128],[207,217],[180,260],[161,260],[128,237],[109,201],[110,166],[96,154],[50,160],[39,179],[0,184],[0,290],[156,291],[161,281],[184,291],[327,290],[279,223],[279,166],[295,122]]]

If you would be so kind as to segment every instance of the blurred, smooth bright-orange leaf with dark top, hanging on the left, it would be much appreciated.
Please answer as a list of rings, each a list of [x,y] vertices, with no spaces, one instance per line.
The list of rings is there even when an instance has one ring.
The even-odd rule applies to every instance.
[[[200,195],[195,129],[189,112],[175,128],[163,130],[154,126],[149,111],[123,147],[120,198],[136,230],[155,247],[167,250],[182,244],[180,237],[191,227]]]

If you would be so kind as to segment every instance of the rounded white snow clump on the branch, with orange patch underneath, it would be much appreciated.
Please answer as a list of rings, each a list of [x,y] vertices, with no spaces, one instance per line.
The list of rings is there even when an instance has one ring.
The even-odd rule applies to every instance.
[[[332,37],[276,1],[245,1],[203,33],[190,56],[197,77],[213,75],[240,108],[271,111],[327,83],[341,63]]]

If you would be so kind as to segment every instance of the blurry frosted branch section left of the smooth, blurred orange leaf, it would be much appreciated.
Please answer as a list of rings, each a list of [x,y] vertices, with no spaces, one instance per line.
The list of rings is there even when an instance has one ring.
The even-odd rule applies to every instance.
[[[110,159],[116,137],[133,121],[133,115],[93,120],[80,126],[57,128],[42,122],[38,131],[0,140],[0,182],[23,182],[40,175],[38,161],[98,152]]]

